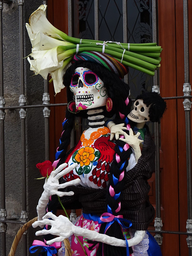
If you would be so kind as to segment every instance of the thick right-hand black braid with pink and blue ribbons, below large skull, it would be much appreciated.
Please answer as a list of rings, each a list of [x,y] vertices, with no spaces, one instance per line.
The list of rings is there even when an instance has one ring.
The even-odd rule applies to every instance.
[[[122,123],[122,121],[126,124],[127,130],[130,129],[129,120],[127,118],[127,114],[130,111],[131,100],[127,97],[126,99],[118,99],[120,100],[120,108],[118,111],[118,115],[116,115],[116,123]],[[119,118],[118,118],[119,117]],[[121,135],[122,137],[123,135]],[[124,136],[123,136],[124,137]],[[119,239],[124,239],[122,228],[124,228],[124,224],[120,221],[123,216],[119,215],[121,212],[121,200],[122,200],[122,191],[124,189],[124,178],[126,173],[126,168],[129,163],[129,157],[132,153],[131,148],[128,144],[124,143],[121,140],[115,141],[115,154],[113,157],[113,162],[111,164],[110,175],[109,175],[109,185],[108,185],[108,193],[106,195],[107,199],[107,212],[102,214],[102,216],[109,216],[105,219],[105,221],[113,216],[113,221],[111,224],[109,222],[103,222],[100,227],[100,233],[105,233],[108,236],[114,236]],[[103,217],[101,216],[101,220]],[[130,224],[130,223],[129,223]],[[129,225],[128,225],[129,226]],[[131,226],[131,224],[130,224]],[[127,248],[123,247],[115,247],[108,244],[101,244],[99,249],[97,250],[97,256],[102,255],[102,252],[105,252],[105,255],[127,255],[128,254],[128,243]],[[129,254],[128,254],[129,255]]]

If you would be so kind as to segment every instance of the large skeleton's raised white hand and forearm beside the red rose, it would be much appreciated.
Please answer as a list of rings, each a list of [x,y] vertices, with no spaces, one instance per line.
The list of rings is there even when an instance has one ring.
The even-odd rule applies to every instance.
[[[71,164],[68,166],[65,170],[65,168],[68,164],[61,164],[55,171],[52,171],[49,178],[45,179],[45,184],[43,186],[44,191],[39,199],[38,205],[37,205],[37,215],[38,220],[42,220],[43,216],[45,215],[45,207],[47,206],[49,202],[49,197],[52,195],[58,195],[58,196],[73,196],[74,192],[60,192],[58,191],[59,188],[66,188],[71,185],[76,185],[80,182],[80,179],[71,180],[69,182],[59,184],[59,179],[76,168],[77,164]],[[62,171],[63,170],[63,171]]]

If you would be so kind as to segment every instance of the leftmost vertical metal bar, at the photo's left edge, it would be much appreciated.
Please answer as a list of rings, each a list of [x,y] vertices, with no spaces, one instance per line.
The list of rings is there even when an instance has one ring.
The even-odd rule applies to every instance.
[[[0,107],[5,106],[4,83],[3,83],[3,26],[2,26],[3,1],[0,1]],[[6,220],[5,209],[5,153],[4,153],[4,109],[0,109],[0,156],[1,156],[1,210],[0,219]],[[6,256],[6,230],[7,224],[1,222],[1,246],[2,255]]]

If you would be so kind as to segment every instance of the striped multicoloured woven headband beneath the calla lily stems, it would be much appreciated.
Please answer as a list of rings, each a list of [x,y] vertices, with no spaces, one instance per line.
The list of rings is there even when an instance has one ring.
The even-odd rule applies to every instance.
[[[73,57],[71,63],[73,64],[78,60],[98,63],[103,67],[107,68],[112,73],[117,74],[121,78],[124,78],[124,76],[129,72],[129,69],[127,67],[125,67],[122,63],[120,63],[118,60],[116,60],[107,53],[81,52]]]

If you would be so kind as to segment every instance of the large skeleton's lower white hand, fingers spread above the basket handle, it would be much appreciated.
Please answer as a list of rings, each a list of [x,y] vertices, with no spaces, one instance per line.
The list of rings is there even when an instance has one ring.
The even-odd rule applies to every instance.
[[[49,220],[51,218],[52,220]],[[73,234],[73,228],[75,227],[72,222],[63,215],[59,215],[59,217],[55,216],[52,212],[48,212],[43,217],[43,220],[35,221],[32,226],[36,228],[37,226],[50,225],[51,229],[43,229],[36,232],[36,236],[52,234],[59,237],[56,237],[52,240],[47,241],[47,244],[52,244],[54,242],[61,242],[63,239],[68,238]]]

